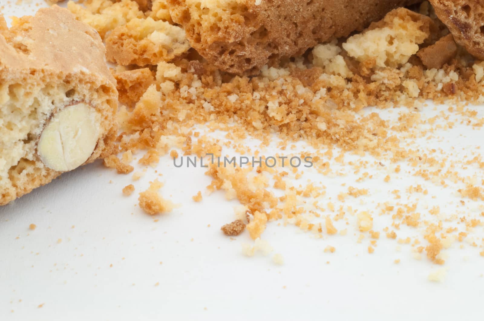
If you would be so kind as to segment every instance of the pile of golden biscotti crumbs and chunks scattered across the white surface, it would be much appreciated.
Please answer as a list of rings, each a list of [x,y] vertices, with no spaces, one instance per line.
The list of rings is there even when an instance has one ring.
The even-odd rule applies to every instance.
[[[188,48],[164,1],[152,1],[151,8],[129,0],[86,0],[83,5],[70,2],[69,8],[97,29],[108,46],[114,37],[129,38],[129,47],[116,48],[123,56],[121,51],[111,56],[130,64],[113,71],[125,105],[118,114],[120,153],[142,152],[137,161],[146,166],[156,166],[168,154],[223,157],[227,147],[262,158],[254,168],[212,164],[206,173],[212,179],[209,193],[223,191],[227,200],[241,204],[227,219],[235,221],[222,230],[227,235],[248,231],[256,243],[244,246],[246,255],[270,252],[261,239],[276,224],[296,226],[316,239],[354,237],[374,255],[379,242],[394,242],[408,247],[414,258],[436,264],[445,263],[445,249],[454,243],[484,252],[482,240],[472,236],[483,225],[484,206],[472,203],[484,200],[483,182],[479,174],[459,174],[463,167],[482,170],[481,154],[476,150],[472,157],[459,158],[458,146],[449,151],[417,144],[438,140],[436,131],[452,131],[451,115],[472,129],[484,125],[467,108],[484,103],[484,62],[455,44],[428,2],[414,11],[394,10],[360,33],[264,66],[252,77],[221,72]],[[424,119],[419,111],[432,108],[425,100],[451,107]],[[370,106],[382,113],[367,112]],[[395,119],[383,117],[384,112]],[[225,140],[201,133],[200,127],[225,132]],[[260,150],[243,144],[255,138],[264,149],[274,137],[281,155],[311,156],[312,170],[328,179],[358,178],[345,181],[345,191],[335,195],[318,180],[303,182],[302,167],[282,168],[280,160],[269,167]],[[297,142],[308,150],[298,150]],[[363,160],[364,155],[375,161]],[[132,160],[113,155],[105,163],[129,173]],[[418,183],[401,186],[402,176]],[[364,188],[372,181],[388,192],[377,195]],[[435,201],[438,195],[429,186],[457,195],[462,208],[450,212]],[[155,181],[140,193],[145,212],[173,208],[158,194],[160,187]],[[370,203],[367,196],[381,200]],[[201,200],[201,192],[193,199]],[[358,208],[349,205],[355,200]],[[466,206],[479,213],[466,214]],[[328,244],[323,248],[335,250]],[[274,262],[281,263],[282,257]]]

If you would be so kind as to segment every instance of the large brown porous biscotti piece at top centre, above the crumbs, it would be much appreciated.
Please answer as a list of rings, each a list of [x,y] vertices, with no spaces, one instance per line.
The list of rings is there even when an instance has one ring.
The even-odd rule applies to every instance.
[[[168,0],[198,53],[231,73],[255,73],[268,61],[301,55],[348,36],[397,7],[421,0]]]

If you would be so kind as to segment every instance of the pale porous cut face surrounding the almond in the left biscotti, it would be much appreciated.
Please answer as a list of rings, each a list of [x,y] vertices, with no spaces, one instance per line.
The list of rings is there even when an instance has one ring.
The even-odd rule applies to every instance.
[[[3,77],[0,76],[0,78]],[[29,81],[29,79],[12,83],[2,81],[0,85],[0,190],[10,194],[14,189],[26,184],[44,184],[44,178],[52,175],[55,170],[60,172],[69,170],[46,166],[37,153],[37,145],[44,129],[56,114],[86,99],[84,90],[90,89],[74,88],[73,85],[62,81],[47,83]],[[100,138],[99,131],[94,135],[97,141]]]

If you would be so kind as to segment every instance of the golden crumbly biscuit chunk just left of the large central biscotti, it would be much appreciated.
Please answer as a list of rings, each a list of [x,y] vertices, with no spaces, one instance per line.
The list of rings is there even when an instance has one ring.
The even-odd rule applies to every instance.
[[[135,18],[106,38],[107,60],[123,66],[155,65],[179,57],[188,49],[185,30],[151,17]]]

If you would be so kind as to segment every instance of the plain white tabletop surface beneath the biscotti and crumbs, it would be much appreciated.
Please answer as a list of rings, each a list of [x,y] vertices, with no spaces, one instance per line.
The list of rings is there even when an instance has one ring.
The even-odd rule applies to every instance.
[[[30,14],[34,9],[7,6],[4,14]],[[423,113],[435,111],[427,108]],[[462,153],[484,147],[482,133],[469,127],[457,125],[441,134],[444,140],[427,141],[426,146],[464,147]],[[397,251],[396,242],[384,235],[369,255],[368,239],[357,244],[351,225],[348,236],[317,240],[295,227],[269,223],[263,238],[273,253],[284,256],[285,264],[278,266],[272,254],[242,255],[248,233],[234,241],[222,235],[219,228],[234,218],[237,202],[226,201],[222,192],[207,196],[204,187],[211,180],[203,169],[175,168],[165,157],[157,170],[163,175],[148,169],[134,183],[136,192],[123,197],[121,189],[132,183],[131,175],[117,175],[96,162],[0,207],[0,320],[482,318],[484,258],[475,248],[458,250],[454,244],[446,251],[444,282],[433,283],[427,276],[440,266],[425,258],[414,260],[409,246]],[[386,173],[375,175],[383,178]],[[321,177],[331,195],[344,190],[341,183],[355,180],[352,175]],[[139,210],[137,193],[154,178],[165,183],[163,196],[182,204],[179,209],[158,217]],[[458,202],[449,189],[427,186],[418,177],[402,176],[388,186],[370,180],[359,187],[371,190],[365,198],[370,206],[390,199],[390,190],[416,183],[438,195],[423,202]],[[191,199],[198,190],[204,196],[200,204]],[[359,201],[348,204],[366,206]],[[474,203],[476,208],[482,205]],[[477,217],[477,210],[468,215]],[[389,222],[376,218],[375,227]],[[37,225],[34,231],[30,223]],[[476,234],[481,232],[479,227]],[[336,252],[324,253],[327,245]],[[395,259],[401,263],[394,264]]]

